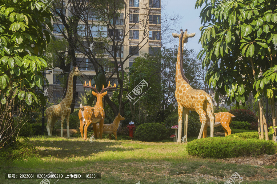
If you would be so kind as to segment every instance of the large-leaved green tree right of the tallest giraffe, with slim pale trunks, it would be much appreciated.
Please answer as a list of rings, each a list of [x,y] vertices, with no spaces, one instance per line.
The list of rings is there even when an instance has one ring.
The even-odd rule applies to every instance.
[[[256,78],[271,67],[271,61],[276,61],[276,2],[197,0],[195,8],[206,4],[200,14],[203,26],[199,41],[203,50],[198,56],[203,56],[203,66],[211,64],[207,80],[215,88],[216,99],[219,94],[227,94],[227,104],[244,104],[250,92],[258,92]],[[264,128],[268,140],[261,101],[259,112],[259,131]],[[260,135],[263,139],[263,133]]]

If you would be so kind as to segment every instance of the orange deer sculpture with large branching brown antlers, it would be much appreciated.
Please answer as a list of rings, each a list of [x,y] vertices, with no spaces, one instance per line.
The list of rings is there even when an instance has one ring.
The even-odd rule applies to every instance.
[[[89,86],[87,86],[88,84],[85,82],[84,83],[84,87],[85,88],[90,88],[95,90],[92,91],[92,94],[94,96],[96,96],[96,104],[94,107],[91,106],[82,106],[82,104],[80,104],[80,110],[79,110],[79,120],[80,120],[80,132],[82,135],[82,138],[84,140],[86,140],[86,136],[87,136],[87,128],[88,126],[92,123],[93,126],[93,131],[94,131],[94,135],[95,138],[97,138],[97,127],[96,127],[96,123],[99,122],[99,130],[100,130],[100,139],[102,139],[102,134],[103,134],[103,125],[104,125],[104,118],[105,118],[105,112],[103,109],[103,97],[107,94],[108,89],[115,89],[115,83],[113,87],[110,87],[110,82],[108,84],[108,87],[103,88],[100,91],[100,93],[98,92],[98,90],[96,89],[96,85],[94,87],[91,86],[91,83],[89,82]],[[104,92],[106,91],[106,92]],[[85,137],[83,136],[83,127],[85,125]]]

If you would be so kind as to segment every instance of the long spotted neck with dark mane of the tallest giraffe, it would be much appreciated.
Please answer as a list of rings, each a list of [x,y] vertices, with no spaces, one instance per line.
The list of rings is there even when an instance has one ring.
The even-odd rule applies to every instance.
[[[175,75],[175,81],[176,84],[179,83],[178,79],[180,78],[181,82],[185,81],[188,85],[190,84],[188,79],[186,78],[183,70],[183,49],[182,49],[182,42],[183,42],[183,34],[181,34],[181,38],[179,41],[179,47],[178,47],[178,55],[177,55],[177,63],[176,63],[176,75]]]

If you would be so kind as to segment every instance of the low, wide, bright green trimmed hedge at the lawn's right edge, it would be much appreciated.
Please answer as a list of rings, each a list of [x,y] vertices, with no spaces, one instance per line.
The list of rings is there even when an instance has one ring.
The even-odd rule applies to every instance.
[[[271,155],[276,151],[277,146],[272,141],[243,139],[233,136],[195,139],[187,143],[188,154],[202,158]]]

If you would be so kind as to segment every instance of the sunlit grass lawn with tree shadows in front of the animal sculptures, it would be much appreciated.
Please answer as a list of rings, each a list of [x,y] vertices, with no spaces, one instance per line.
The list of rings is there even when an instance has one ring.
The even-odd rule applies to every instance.
[[[133,140],[35,136],[30,138],[38,155],[26,159],[1,161],[0,183],[34,183],[37,180],[5,180],[5,172],[100,172],[101,180],[51,180],[50,183],[219,183],[235,172],[244,177],[241,183],[275,184],[274,166],[248,166],[194,158],[186,144],[174,142],[140,142]],[[193,138],[189,139],[192,140]],[[248,178],[249,180],[246,180]],[[254,181],[256,180],[256,181]],[[239,183],[239,182],[235,182]]]

